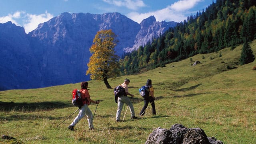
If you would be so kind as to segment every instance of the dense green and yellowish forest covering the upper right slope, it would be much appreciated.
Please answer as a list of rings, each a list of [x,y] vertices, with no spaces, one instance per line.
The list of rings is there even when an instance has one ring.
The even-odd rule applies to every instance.
[[[256,0],[216,0],[119,60],[122,75],[153,69],[195,54],[234,48],[256,38]],[[246,46],[245,46],[246,47]],[[254,59],[253,59],[254,60]]]

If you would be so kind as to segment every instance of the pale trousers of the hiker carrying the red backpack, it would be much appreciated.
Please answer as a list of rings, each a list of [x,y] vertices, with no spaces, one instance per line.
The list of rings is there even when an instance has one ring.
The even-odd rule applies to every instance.
[[[88,108],[87,104],[84,104],[84,106],[81,107],[78,115],[76,116],[74,121],[70,124],[70,126],[75,126],[84,117],[84,115],[87,116],[89,128],[94,128],[94,126],[92,124],[93,115],[92,115],[90,108]]]

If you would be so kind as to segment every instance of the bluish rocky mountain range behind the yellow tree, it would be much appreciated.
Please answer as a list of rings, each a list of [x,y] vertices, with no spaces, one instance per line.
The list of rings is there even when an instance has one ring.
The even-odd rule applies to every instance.
[[[89,80],[89,48],[96,33],[112,29],[118,36],[116,54],[136,50],[176,26],[156,22],[154,16],[140,24],[120,13],[64,12],[25,33],[24,28],[0,24],[0,90],[41,88]]]

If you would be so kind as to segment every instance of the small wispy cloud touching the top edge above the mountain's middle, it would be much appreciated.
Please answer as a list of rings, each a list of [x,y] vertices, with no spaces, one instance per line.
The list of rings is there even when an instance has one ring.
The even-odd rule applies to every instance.
[[[103,0],[103,1],[108,4],[113,4],[119,7],[124,6],[131,10],[137,10],[140,7],[146,6],[143,0]]]

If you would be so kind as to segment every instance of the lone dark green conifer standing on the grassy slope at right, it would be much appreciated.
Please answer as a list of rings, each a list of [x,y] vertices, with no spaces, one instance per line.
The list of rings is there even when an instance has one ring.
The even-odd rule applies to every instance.
[[[248,42],[244,42],[244,46],[241,52],[240,57],[240,65],[248,64],[250,62],[253,62],[255,59],[254,55],[252,54],[251,46],[248,44]]]

